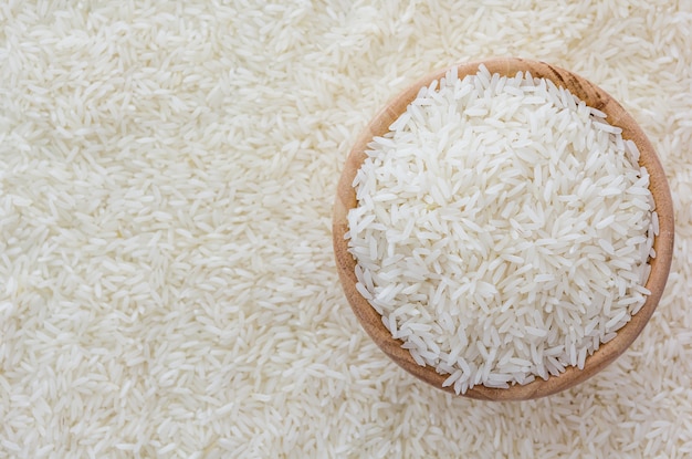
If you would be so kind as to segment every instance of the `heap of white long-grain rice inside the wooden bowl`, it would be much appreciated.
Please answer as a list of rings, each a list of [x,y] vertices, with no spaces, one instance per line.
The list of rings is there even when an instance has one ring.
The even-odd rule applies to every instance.
[[[584,368],[644,304],[658,217],[621,131],[549,80],[481,65],[422,87],[369,145],[356,288],[443,386]]]

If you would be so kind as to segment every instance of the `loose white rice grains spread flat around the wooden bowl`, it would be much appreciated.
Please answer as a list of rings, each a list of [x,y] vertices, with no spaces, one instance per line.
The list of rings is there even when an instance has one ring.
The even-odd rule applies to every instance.
[[[692,455],[688,0],[0,4],[0,458]],[[658,148],[677,244],[622,357],[544,399],[399,369],[337,281],[355,136],[419,76],[546,60]]]

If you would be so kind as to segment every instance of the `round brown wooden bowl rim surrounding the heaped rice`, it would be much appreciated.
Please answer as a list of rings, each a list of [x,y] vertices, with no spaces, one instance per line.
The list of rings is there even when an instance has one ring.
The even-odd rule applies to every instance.
[[[663,293],[670,271],[673,252],[673,206],[665,174],[651,143],[635,119],[605,91],[566,70],[546,64],[545,62],[522,59],[492,59],[459,64],[459,77],[476,73],[481,63],[485,64],[491,73],[500,73],[507,76],[514,76],[518,71],[530,71],[534,77],[552,80],[556,85],[568,88],[581,101],[585,101],[587,105],[606,113],[608,115],[607,119],[611,125],[622,128],[622,137],[633,140],[639,147],[641,153],[639,163],[649,170],[650,189],[656,200],[656,210],[659,216],[660,230],[653,243],[657,257],[651,261],[651,274],[646,285],[651,291],[651,295],[649,295],[644,305],[635,314],[631,321],[618,331],[614,340],[602,344],[598,351],[587,357],[584,369],[570,366],[559,376],[551,376],[547,380],[536,378],[536,380],[524,386],[513,385],[506,389],[475,386],[464,394],[466,397],[484,400],[525,400],[555,394],[586,380],[622,354],[641,333]],[[344,239],[344,234],[348,231],[348,210],[356,207],[356,195],[352,184],[356,171],[366,157],[367,144],[374,136],[381,136],[389,131],[391,123],[406,111],[407,105],[416,98],[421,86],[444,76],[448,70],[443,69],[423,77],[396,96],[375,116],[358,137],[338,181],[333,216],[333,242],[342,285],[350,306],[365,331],[403,369],[438,388],[454,394],[452,387],[442,387],[442,382],[449,375],[440,375],[431,366],[418,365],[409,352],[401,348],[402,342],[391,336],[390,332],[382,324],[381,316],[377,311],[358,293],[355,275],[356,262],[348,252],[348,241]]]

